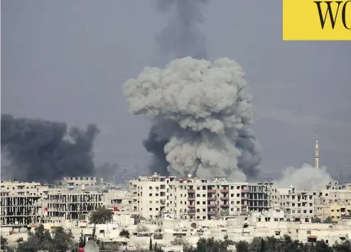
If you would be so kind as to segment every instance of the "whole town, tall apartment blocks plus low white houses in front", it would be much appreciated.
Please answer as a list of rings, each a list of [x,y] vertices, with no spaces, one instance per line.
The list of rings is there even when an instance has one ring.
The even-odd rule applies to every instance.
[[[57,185],[1,182],[1,236],[26,241],[28,230],[43,224],[72,231],[75,241],[93,229],[104,243],[128,250],[148,248],[154,239],[163,251],[174,241],[194,245],[200,238],[252,241],[288,235],[293,240],[325,243],[351,235],[351,184],[336,181],[323,190],[279,188],[272,182],[229,182],[225,177],[137,177],[126,189],[97,177],[63,177]],[[108,219],[92,221],[107,211]],[[128,238],[121,236],[127,231]]]

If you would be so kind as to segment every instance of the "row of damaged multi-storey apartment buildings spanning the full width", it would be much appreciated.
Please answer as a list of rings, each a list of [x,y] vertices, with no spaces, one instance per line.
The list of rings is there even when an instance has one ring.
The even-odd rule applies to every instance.
[[[96,177],[64,177],[58,185],[1,182],[1,225],[23,226],[80,220],[99,207],[157,219],[170,212],[174,219],[220,219],[279,208],[291,221],[313,218],[334,221],[351,211],[351,185],[330,182],[325,189],[299,191],[271,182],[229,182],[225,177],[176,179],[154,174],[129,180],[126,189]]]

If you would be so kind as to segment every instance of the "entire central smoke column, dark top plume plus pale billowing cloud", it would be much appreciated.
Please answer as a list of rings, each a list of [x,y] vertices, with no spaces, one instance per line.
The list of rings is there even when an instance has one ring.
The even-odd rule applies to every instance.
[[[222,175],[224,172],[237,180],[240,178],[244,180],[246,175],[256,177],[262,155],[261,146],[255,140],[254,132],[247,128],[252,123],[252,105],[251,96],[247,93],[246,82],[240,80],[243,85],[242,89],[227,93],[227,87],[235,89],[238,84],[236,77],[231,76],[233,83],[227,84],[225,77],[210,76],[210,74],[218,74],[220,65],[223,63],[223,72],[228,67],[227,71],[230,72],[228,76],[237,74],[240,79],[243,75],[242,68],[236,62],[229,60],[218,60],[212,65],[213,67],[210,62],[201,61],[207,59],[205,35],[199,27],[204,21],[202,7],[207,1],[160,0],[156,3],[158,11],[168,13],[168,16],[171,17],[166,28],[156,36],[161,61],[168,62],[174,58],[188,56],[192,58],[172,62],[165,70],[146,69],[139,75],[134,84],[131,81],[125,85],[126,97],[131,111],[134,114],[148,114],[153,119],[151,131],[148,138],[144,140],[146,150],[153,154],[149,169],[151,172],[171,173],[179,176],[185,176],[189,172],[201,177],[212,177],[213,175]],[[226,64],[229,65],[225,66]],[[210,70],[206,67],[213,69]],[[204,72],[199,72],[200,69]],[[166,77],[168,71],[173,74]],[[191,73],[192,71],[193,73]],[[161,72],[165,76],[162,80],[159,76]],[[145,84],[137,83],[140,78],[146,77],[147,79],[151,75],[156,77],[156,82],[158,82],[153,87],[148,88]],[[229,79],[231,77],[229,76]],[[183,82],[178,82],[178,80]],[[140,81],[143,82],[143,80]],[[174,84],[178,82],[178,85],[173,84],[173,87],[168,87],[168,83],[171,82]],[[139,87],[140,84],[144,88],[145,93],[143,94],[138,94],[138,91],[133,89],[133,85]],[[153,88],[156,89],[156,86],[159,90],[153,90]],[[172,98],[169,97],[171,92],[180,93],[178,93],[178,97]],[[211,92],[214,93],[211,94]],[[155,109],[154,113],[146,112],[151,111],[151,108],[138,109],[134,106],[134,102],[138,102],[136,99],[141,97],[153,99],[149,94],[157,94],[158,99],[169,100],[169,102],[176,99],[178,104],[171,106],[171,104],[165,103],[163,109],[154,107],[152,108]],[[177,93],[172,95],[175,94]],[[205,97],[206,94],[207,97]],[[229,97],[230,94],[232,97]],[[222,100],[224,97],[227,97],[226,101]],[[192,98],[197,100],[190,101]],[[181,104],[182,102],[183,104]],[[186,104],[187,102],[189,104]],[[144,101],[145,106],[150,105],[147,104],[148,101]],[[236,114],[240,113],[242,109],[239,106],[247,107],[247,111],[245,111],[248,114],[247,118]],[[218,108],[222,110],[218,110]],[[235,116],[238,117],[234,119]],[[192,124],[191,119],[193,119],[194,125],[190,125]],[[233,122],[237,126],[228,126],[229,122],[220,121],[221,119],[238,120]],[[222,130],[217,131],[216,128],[210,128],[216,127],[215,124],[219,121],[223,124]],[[210,124],[213,125],[210,126]],[[244,173],[237,168],[240,168]]]

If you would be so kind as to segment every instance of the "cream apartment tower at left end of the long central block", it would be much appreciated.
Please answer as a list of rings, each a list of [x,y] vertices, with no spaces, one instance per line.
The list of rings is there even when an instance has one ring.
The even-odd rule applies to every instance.
[[[152,176],[129,180],[133,211],[139,212],[144,218],[158,217],[166,210],[168,183],[174,180],[174,176],[161,176],[157,172]]]

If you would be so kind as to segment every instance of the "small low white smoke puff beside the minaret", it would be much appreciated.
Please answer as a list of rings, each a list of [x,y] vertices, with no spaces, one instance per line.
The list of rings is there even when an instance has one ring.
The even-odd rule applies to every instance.
[[[293,187],[296,190],[320,190],[325,188],[333,178],[327,172],[327,168],[323,166],[320,169],[303,164],[301,168],[286,168],[281,172],[281,178],[274,182],[279,187]]]

